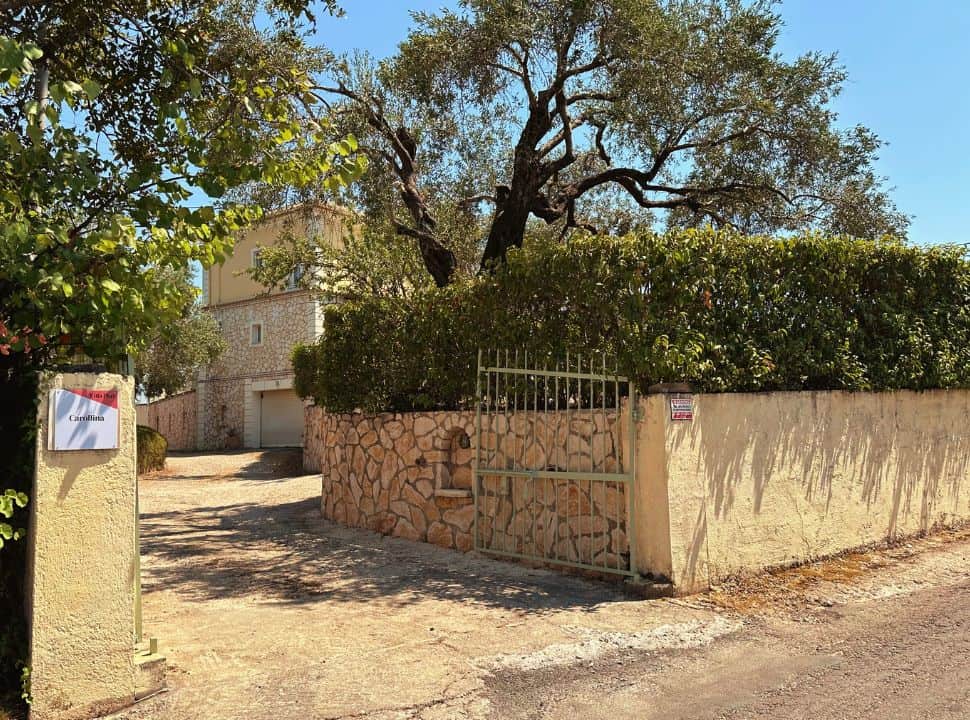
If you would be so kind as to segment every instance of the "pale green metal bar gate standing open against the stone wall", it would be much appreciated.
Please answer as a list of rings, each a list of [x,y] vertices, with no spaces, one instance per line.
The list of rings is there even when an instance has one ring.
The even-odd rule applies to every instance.
[[[605,355],[479,351],[475,549],[635,575],[635,389]]]

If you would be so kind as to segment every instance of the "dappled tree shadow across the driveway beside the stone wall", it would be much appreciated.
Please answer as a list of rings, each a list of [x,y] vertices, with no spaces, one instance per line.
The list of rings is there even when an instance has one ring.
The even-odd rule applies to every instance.
[[[324,520],[319,498],[142,514],[142,587],[191,599],[400,607],[431,599],[523,613],[592,609],[615,585]]]

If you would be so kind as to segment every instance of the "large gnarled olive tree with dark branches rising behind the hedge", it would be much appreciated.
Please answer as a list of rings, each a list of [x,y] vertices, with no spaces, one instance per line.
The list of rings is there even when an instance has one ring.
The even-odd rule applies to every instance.
[[[371,209],[439,285],[459,267],[439,216],[458,213],[485,266],[535,222],[904,234],[873,167],[880,140],[832,110],[845,70],[781,57],[775,7],[464,0],[415,13],[394,57],[344,59],[320,89],[394,188]]]

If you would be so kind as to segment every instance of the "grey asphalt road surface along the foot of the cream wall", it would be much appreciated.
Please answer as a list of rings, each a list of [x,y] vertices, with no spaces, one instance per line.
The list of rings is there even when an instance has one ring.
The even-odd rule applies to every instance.
[[[970,581],[764,621],[706,647],[509,673],[505,718],[970,718]]]

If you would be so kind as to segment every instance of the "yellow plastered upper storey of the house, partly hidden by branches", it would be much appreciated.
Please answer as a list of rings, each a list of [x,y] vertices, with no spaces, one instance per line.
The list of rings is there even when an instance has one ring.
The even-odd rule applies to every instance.
[[[346,218],[345,211],[322,205],[299,206],[268,216],[242,234],[222,265],[205,271],[208,273],[209,304],[248,300],[265,291],[262,285],[245,274],[252,265],[252,251],[257,247],[276,245],[286,233],[305,237],[308,228],[319,232],[325,242],[339,247],[343,242]]]

